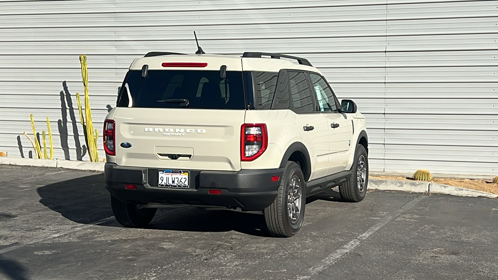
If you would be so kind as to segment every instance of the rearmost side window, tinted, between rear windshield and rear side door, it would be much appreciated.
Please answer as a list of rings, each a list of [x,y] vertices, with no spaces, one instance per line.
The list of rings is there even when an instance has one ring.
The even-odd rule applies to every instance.
[[[255,91],[258,109],[270,109],[277,88],[278,73],[254,72]]]

